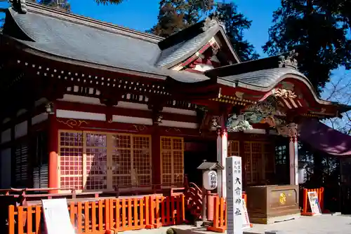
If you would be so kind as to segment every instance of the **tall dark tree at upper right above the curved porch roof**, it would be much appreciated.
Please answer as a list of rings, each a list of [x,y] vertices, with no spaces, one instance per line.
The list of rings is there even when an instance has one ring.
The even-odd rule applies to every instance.
[[[341,0],[337,0],[341,1]],[[347,39],[350,8],[341,9],[327,0],[282,0],[273,13],[274,25],[263,50],[277,55],[295,49],[299,69],[318,93],[329,82],[331,70],[339,66],[351,68],[351,41]],[[350,0],[343,2],[350,4]]]

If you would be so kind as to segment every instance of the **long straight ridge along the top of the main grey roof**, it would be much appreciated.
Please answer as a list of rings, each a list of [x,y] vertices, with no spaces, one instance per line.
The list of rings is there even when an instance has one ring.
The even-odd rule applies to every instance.
[[[85,25],[88,27],[95,27],[96,29],[104,30],[107,32],[112,32],[114,34],[121,34],[124,36],[133,37],[135,39],[140,39],[143,41],[148,41],[150,43],[158,43],[164,38],[161,36],[156,36],[152,34],[147,34],[134,29],[128,29],[126,27],[121,27],[113,25],[112,23],[103,22],[101,20],[95,20],[93,18],[88,18],[82,15],[77,15],[74,13],[67,13],[65,11],[60,11],[55,8],[50,8],[48,6],[42,6],[40,4],[35,4],[32,2],[26,2],[27,11],[32,13],[39,13],[41,15],[47,15],[60,20],[67,20],[69,22],[74,22],[80,25]]]

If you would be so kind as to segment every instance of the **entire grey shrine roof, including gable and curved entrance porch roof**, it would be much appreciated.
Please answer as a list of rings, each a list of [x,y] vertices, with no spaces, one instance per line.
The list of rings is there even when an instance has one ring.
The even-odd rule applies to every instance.
[[[227,39],[217,20],[199,22],[164,39],[27,3],[27,11],[22,13],[14,8],[8,9],[1,34],[20,41],[36,52],[66,58],[67,62],[83,62],[92,67],[102,65],[109,69],[136,71],[143,76],[173,78],[182,83],[206,81],[202,83],[206,85],[211,79],[223,85],[238,85],[253,90],[269,90],[289,75],[300,79],[312,90],[310,82],[297,69],[278,66],[282,56],[219,67],[205,74],[166,69],[194,55],[212,36],[222,35]],[[229,42],[226,43],[231,49]],[[313,95],[323,102],[315,92]]]

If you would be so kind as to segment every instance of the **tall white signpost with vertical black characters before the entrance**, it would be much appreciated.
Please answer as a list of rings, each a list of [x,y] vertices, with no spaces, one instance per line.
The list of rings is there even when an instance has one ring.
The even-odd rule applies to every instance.
[[[227,234],[243,234],[241,158],[225,158],[227,184]]]

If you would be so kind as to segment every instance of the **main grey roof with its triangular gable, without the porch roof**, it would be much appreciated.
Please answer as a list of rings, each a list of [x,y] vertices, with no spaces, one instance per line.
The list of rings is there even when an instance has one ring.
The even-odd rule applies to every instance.
[[[9,8],[9,13],[32,41],[22,41],[27,46],[74,60],[148,73],[158,74],[160,67],[168,69],[186,60],[218,32],[227,38],[220,22],[211,19],[164,39],[39,4],[27,3],[27,13],[14,8]]]

